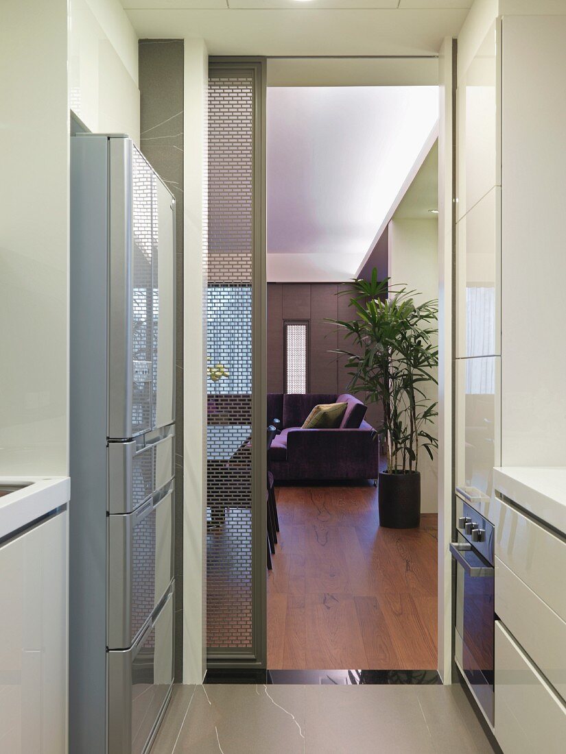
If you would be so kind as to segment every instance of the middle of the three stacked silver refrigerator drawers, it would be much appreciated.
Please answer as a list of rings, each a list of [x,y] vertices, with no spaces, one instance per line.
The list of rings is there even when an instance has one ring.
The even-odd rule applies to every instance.
[[[108,516],[108,633],[111,649],[129,647],[174,575],[173,483],[143,506]]]

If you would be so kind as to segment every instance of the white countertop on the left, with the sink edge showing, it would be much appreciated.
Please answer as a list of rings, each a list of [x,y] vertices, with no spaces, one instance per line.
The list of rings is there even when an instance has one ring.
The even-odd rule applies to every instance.
[[[0,497],[0,541],[69,502],[69,477],[0,477],[0,486],[26,487]]]

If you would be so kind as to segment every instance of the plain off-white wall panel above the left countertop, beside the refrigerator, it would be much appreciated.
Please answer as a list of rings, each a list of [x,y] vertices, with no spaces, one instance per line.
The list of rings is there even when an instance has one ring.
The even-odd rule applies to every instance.
[[[0,102],[0,473],[66,475],[66,0],[3,0]]]

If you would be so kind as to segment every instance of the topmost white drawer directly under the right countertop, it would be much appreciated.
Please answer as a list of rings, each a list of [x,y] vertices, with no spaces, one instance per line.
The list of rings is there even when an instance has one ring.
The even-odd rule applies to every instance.
[[[566,621],[566,541],[500,501],[495,554]]]

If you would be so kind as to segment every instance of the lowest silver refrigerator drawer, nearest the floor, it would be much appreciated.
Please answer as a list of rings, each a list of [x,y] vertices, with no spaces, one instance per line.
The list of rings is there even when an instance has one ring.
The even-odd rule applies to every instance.
[[[143,754],[173,684],[174,584],[134,646],[109,651],[108,754]]]

